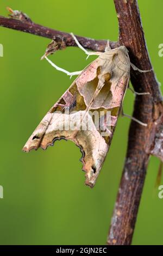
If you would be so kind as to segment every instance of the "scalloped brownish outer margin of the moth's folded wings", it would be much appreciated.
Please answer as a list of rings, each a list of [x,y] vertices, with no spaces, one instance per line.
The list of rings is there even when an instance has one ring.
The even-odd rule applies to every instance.
[[[82,136],[78,133],[77,137],[73,135],[68,136],[66,133],[61,134],[61,132],[56,134],[49,132],[42,137],[39,136],[39,138],[31,136],[22,151],[28,153],[38,148],[46,150],[50,145],[53,146],[55,141],[60,141],[60,139],[73,141],[80,149],[82,153],[80,161],[83,164],[82,169],[85,172],[85,185],[91,188],[95,186],[108,146],[103,138],[98,138],[93,132],[89,136],[87,136],[87,133],[82,133]],[[93,147],[95,145],[98,146],[98,150],[97,147]]]

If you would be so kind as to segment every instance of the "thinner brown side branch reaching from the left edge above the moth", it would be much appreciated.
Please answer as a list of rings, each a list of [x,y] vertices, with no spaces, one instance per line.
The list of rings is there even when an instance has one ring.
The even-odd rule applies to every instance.
[[[62,36],[66,42],[66,46],[77,46],[76,42],[73,40],[72,36],[69,33],[56,31],[55,29],[44,27],[30,21],[21,21],[17,19],[6,18],[0,16],[0,26],[15,29],[17,31],[22,31],[34,35],[43,36],[45,38],[53,39],[54,36]],[[103,52],[105,50],[106,40],[95,40],[91,38],[84,38],[82,36],[77,36],[80,44],[84,48],[90,49],[92,51]],[[118,46],[118,42],[110,42],[111,48]]]

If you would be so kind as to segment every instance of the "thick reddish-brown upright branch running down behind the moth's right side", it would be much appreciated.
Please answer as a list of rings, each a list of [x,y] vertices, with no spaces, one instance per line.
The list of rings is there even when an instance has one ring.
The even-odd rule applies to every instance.
[[[114,3],[119,22],[120,45],[128,48],[130,60],[138,68],[151,69],[137,1],[114,0]],[[158,135],[158,131],[161,133],[163,129],[162,96],[154,72],[141,74],[131,71],[131,82],[136,92],[150,93],[136,96],[133,113],[135,118],[148,126],[131,122],[126,163],[112,217],[108,245],[131,244],[149,155],[153,154],[154,145],[158,145],[156,139],[162,139],[162,136]]]

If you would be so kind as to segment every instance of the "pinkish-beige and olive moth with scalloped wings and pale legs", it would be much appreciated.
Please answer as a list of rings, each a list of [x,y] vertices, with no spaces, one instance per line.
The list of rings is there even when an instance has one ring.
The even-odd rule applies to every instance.
[[[87,56],[96,54],[98,58],[83,71],[70,73],[44,56],[55,69],[78,77],[42,119],[24,145],[23,151],[29,152],[39,147],[47,149],[58,139],[73,141],[82,152],[85,184],[93,187],[108,153],[121,112],[130,79],[130,66],[135,70],[139,69],[130,63],[125,46],[111,49],[108,43],[105,52],[87,52],[77,38],[73,34],[72,36]],[[96,117],[93,115],[95,111]],[[65,120],[68,121],[65,123]],[[73,127],[67,127],[67,122],[73,124]],[[79,127],[74,127],[74,123],[80,123]],[[101,124],[99,129],[96,123]],[[85,128],[88,124],[93,129],[81,129],[81,126]]]

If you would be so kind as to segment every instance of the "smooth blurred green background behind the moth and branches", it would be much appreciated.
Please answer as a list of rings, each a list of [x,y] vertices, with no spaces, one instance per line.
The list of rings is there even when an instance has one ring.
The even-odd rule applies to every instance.
[[[1,0],[22,10],[41,25],[95,39],[117,40],[118,23],[112,0]],[[162,0],[139,1],[148,50],[163,81]],[[29,154],[22,147],[40,120],[72,80],[40,61],[51,40],[0,27],[1,161],[0,232],[2,245],[105,244],[127,148],[130,120],[120,118],[102,172],[93,189],[84,185],[81,153],[72,142],[57,141],[47,151]],[[93,59],[76,47],[51,59],[69,71],[83,69]],[[132,113],[134,96],[127,93],[124,111]],[[137,217],[133,245],[163,245],[163,199],[154,192],[159,160],[151,157]],[[163,182],[163,181],[162,181]]]

